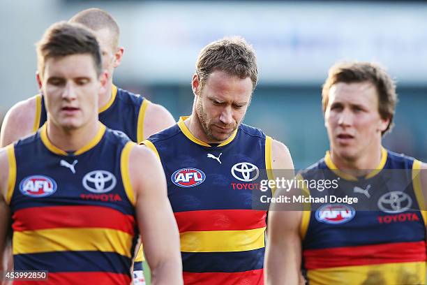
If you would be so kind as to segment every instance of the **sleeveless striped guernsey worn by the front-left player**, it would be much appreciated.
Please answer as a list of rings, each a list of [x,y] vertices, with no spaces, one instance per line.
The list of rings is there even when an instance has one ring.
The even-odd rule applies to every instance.
[[[40,284],[130,284],[138,231],[122,177],[133,145],[100,124],[73,153],[54,147],[45,126],[8,147],[15,270],[47,270]]]

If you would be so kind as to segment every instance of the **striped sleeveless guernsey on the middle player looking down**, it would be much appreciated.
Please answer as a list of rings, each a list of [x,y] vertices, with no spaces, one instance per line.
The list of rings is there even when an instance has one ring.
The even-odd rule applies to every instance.
[[[264,193],[257,186],[271,169],[271,138],[242,124],[230,139],[208,145],[181,118],[144,144],[165,170],[184,283],[263,284],[268,205],[257,204]]]

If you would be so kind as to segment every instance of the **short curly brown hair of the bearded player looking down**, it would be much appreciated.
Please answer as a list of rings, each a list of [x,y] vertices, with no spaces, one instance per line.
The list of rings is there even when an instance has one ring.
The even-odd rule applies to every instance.
[[[213,71],[225,71],[242,79],[249,77],[252,80],[252,89],[255,89],[258,80],[255,50],[239,36],[209,43],[200,51],[196,62],[200,89]]]

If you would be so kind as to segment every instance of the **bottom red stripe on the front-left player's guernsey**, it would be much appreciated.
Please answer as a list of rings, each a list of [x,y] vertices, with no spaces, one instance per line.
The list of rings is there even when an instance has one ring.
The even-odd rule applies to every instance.
[[[130,284],[130,276],[126,274],[110,272],[58,272],[47,274],[47,280],[43,281],[14,281],[13,284],[42,284],[42,285],[86,285],[86,284]]]

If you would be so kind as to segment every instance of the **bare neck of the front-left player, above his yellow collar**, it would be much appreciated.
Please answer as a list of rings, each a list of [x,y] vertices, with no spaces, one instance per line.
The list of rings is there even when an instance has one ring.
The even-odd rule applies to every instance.
[[[96,118],[78,129],[64,129],[47,119],[47,138],[55,147],[65,152],[75,152],[95,138],[100,126]]]

